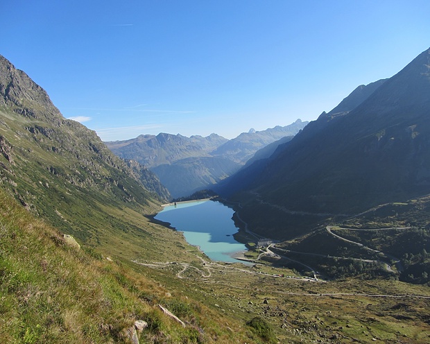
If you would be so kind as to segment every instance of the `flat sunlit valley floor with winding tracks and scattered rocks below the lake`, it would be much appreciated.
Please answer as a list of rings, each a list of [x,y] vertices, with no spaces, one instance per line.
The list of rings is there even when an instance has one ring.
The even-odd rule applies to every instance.
[[[430,289],[398,281],[343,279],[322,282],[262,264],[143,261],[148,273],[179,281],[190,298],[234,318],[259,316],[280,343],[428,343]],[[178,283],[175,282],[175,279]]]

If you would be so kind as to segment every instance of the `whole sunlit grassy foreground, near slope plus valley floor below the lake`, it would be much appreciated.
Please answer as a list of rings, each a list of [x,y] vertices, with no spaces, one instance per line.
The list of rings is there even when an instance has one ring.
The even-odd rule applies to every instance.
[[[146,232],[151,228],[161,238],[158,255],[150,246],[139,257],[118,249],[110,261],[105,252],[112,245],[100,251],[69,246],[0,191],[0,342],[128,343],[126,330],[135,320],[148,323],[140,343],[430,339],[427,286],[359,278],[313,282],[264,261],[216,263],[180,241],[180,233],[146,223]]]

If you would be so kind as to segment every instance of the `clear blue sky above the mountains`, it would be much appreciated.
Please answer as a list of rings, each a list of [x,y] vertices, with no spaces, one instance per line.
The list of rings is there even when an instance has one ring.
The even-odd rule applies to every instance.
[[[429,0],[0,0],[0,54],[105,141],[313,120],[430,47]]]

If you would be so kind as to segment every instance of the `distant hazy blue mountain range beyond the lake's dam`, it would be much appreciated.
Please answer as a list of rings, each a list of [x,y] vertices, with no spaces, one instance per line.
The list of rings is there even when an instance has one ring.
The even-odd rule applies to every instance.
[[[250,130],[230,140],[216,134],[184,137],[160,133],[105,144],[119,157],[148,167],[171,195],[178,198],[210,189],[216,182],[239,171],[257,150],[284,137],[291,139],[307,123],[298,119],[289,126]]]

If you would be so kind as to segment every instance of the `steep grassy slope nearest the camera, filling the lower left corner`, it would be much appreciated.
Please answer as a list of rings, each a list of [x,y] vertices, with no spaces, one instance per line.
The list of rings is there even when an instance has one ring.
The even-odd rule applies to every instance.
[[[141,343],[246,341],[240,323],[85,251],[0,189],[1,343],[129,343],[136,320],[148,323]]]

